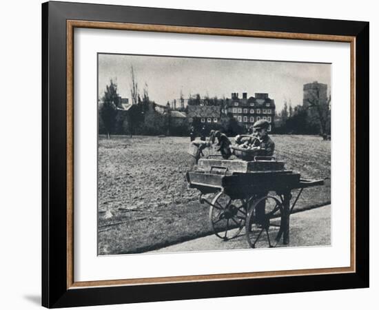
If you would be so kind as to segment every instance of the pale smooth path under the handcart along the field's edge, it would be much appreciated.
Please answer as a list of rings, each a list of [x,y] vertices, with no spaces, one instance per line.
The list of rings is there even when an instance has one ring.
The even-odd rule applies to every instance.
[[[330,205],[318,207],[307,211],[292,214],[289,220],[289,247],[330,245]],[[282,239],[283,240],[283,239]],[[284,245],[279,245],[283,247]],[[178,245],[171,245],[152,251],[158,252],[183,252],[183,251],[214,251],[223,249],[247,249],[246,236],[242,231],[241,236],[232,240],[223,241],[215,235],[197,238]]]

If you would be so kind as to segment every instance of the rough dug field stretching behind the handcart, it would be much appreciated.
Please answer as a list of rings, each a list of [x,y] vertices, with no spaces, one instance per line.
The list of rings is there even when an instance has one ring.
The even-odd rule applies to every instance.
[[[330,176],[330,141],[272,136],[275,156],[303,178]],[[141,253],[212,234],[207,205],[187,189],[189,138],[99,138],[99,254]],[[297,208],[330,203],[330,183],[303,192]]]

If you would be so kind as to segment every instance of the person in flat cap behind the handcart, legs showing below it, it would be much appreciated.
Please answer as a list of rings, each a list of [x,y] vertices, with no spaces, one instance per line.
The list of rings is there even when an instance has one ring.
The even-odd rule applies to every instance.
[[[258,139],[260,141],[260,149],[258,151],[258,154],[260,156],[272,156],[275,150],[275,143],[267,134],[267,131],[269,129],[269,122],[265,120],[256,121],[256,123],[253,125],[253,128],[256,132],[256,136],[258,136]],[[262,193],[258,195],[257,199],[265,197],[268,194],[268,192]],[[267,221],[265,220],[265,208],[265,200],[256,206],[256,220],[258,222],[258,225],[263,228],[266,228],[265,225],[267,225]]]

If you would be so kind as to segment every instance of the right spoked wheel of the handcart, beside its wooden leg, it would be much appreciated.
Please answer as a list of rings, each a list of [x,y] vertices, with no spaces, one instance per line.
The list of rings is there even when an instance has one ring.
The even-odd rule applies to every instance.
[[[280,229],[283,205],[273,196],[254,201],[246,220],[246,237],[250,247],[276,247],[282,236]]]

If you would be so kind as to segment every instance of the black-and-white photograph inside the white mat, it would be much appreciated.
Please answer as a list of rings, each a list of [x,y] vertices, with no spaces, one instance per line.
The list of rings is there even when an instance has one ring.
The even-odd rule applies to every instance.
[[[331,64],[98,53],[98,255],[331,245]]]

